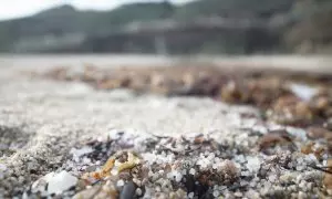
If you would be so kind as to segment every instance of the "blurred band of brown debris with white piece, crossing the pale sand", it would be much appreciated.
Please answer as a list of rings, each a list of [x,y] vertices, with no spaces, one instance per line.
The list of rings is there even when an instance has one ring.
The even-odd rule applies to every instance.
[[[322,124],[332,116],[330,82],[312,74],[301,73],[301,78],[295,78],[297,73],[256,73],[220,70],[214,65],[139,69],[84,65],[83,70],[56,67],[44,76],[82,81],[100,90],[131,88],[141,93],[209,96],[228,103],[251,104],[262,108],[267,119],[292,126]]]

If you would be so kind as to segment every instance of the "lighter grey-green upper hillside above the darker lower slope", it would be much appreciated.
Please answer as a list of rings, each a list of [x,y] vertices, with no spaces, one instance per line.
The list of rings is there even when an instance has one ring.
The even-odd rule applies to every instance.
[[[291,19],[292,25],[281,30],[280,36],[283,39],[280,45],[289,51],[303,51],[303,45],[310,43],[311,48],[307,48],[310,52],[318,51],[326,41],[330,43],[331,13],[329,0],[196,0],[179,7],[165,2],[131,3],[110,11],[77,11],[70,6],[62,6],[32,17],[0,21],[0,51],[11,51],[15,42],[38,36],[94,35],[116,31],[134,21],[165,18],[190,21],[198,17],[218,15]]]

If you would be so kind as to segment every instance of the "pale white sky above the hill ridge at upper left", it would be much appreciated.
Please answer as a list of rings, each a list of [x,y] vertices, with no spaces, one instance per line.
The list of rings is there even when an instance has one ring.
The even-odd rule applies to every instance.
[[[72,4],[77,9],[110,10],[121,3],[134,1],[160,1],[160,0],[1,0],[0,20],[30,15],[44,9],[60,4]],[[175,3],[184,3],[190,0],[172,0]]]

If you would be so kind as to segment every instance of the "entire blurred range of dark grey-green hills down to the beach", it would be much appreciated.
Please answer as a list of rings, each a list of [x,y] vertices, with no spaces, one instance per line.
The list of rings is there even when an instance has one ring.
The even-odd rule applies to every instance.
[[[1,9],[15,7],[0,18],[1,53],[332,52],[331,0],[108,0],[110,8],[90,1],[84,9],[72,1],[35,9],[33,0],[18,2]],[[29,3],[32,10],[20,13]]]

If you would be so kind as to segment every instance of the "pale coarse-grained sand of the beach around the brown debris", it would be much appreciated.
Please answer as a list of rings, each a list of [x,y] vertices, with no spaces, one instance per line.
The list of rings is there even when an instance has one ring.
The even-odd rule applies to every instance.
[[[326,158],[321,161],[312,155],[280,153],[281,149],[278,149],[274,156],[264,156],[255,148],[259,137],[271,129],[286,129],[295,137],[294,145],[300,146],[308,140],[305,132],[301,128],[286,128],[277,124],[268,124],[262,121],[259,111],[253,107],[229,105],[208,97],[141,95],[127,90],[96,91],[81,82],[32,78],[24,73],[31,70],[43,71],[46,70],[45,66],[80,66],[84,63],[94,63],[93,59],[90,60],[89,56],[68,60],[52,57],[53,62],[51,62],[52,59],[48,59],[0,57],[0,198],[37,198],[38,196],[55,196],[55,193],[60,198],[72,198],[73,196],[85,198],[89,191],[79,195],[80,191],[84,191],[84,188],[77,188],[80,186],[75,180],[80,180],[89,168],[92,169],[92,166],[100,168],[104,165],[116,150],[116,147],[113,148],[113,146],[117,146],[116,142],[122,139],[128,139],[133,145],[124,148],[132,148],[141,153],[139,160],[143,166],[153,166],[157,163],[180,164],[183,163],[180,160],[185,159],[195,168],[181,172],[172,167],[173,176],[170,175],[170,177],[169,175],[156,176],[156,172],[148,174],[149,181],[142,182],[142,187],[145,185],[143,192],[143,188],[138,186],[139,189],[137,188],[133,193],[136,197],[271,198],[279,196],[281,198],[314,198],[319,192],[323,174],[307,166],[312,163],[324,165]],[[172,65],[173,61],[158,57],[137,61],[136,57],[133,57],[125,61],[113,60],[112,63],[111,60],[108,62],[106,57],[103,57],[94,64],[131,65],[135,62],[137,65],[147,63]],[[264,62],[267,61],[257,65],[263,65]],[[274,63],[274,61],[272,62]],[[326,64],[321,64],[321,69],[324,72],[330,70]],[[299,70],[305,70],[305,66]],[[105,147],[107,138],[115,135],[127,137],[114,138],[115,144],[113,143],[105,149],[106,153],[103,154],[103,157],[91,158],[87,155],[92,151],[77,155],[79,149],[86,146]],[[177,145],[181,136],[189,143],[191,140],[195,143],[199,136],[204,139],[211,139],[216,142],[219,149],[207,145],[196,149],[188,146],[187,155],[166,149],[163,150],[164,154],[160,151],[160,146],[164,146],[168,138],[174,138]],[[147,142],[149,139],[157,139],[155,140],[157,144],[149,146],[151,143]],[[93,140],[95,145],[87,144]],[[221,146],[225,148],[220,149]],[[179,150],[186,151],[184,148]],[[79,159],[75,160],[75,156]],[[86,160],[87,157],[90,157],[89,160]],[[168,160],[165,160],[167,158]],[[279,163],[287,163],[283,166],[273,165],[273,158],[274,160],[279,159]],[[264,167],[271,167],[272,171],[266,171],[263,176],[258,175]],[[228,169],[222,177],[225,184],[211,186],[204,193],[196,192],[197,187],[194,188],[195,190],[189,190],[190,188],[186,184],[188,179],[185,178],[186,171],[195,176],[198,170],[201,171],[204,168],[220,169],[220,174]],[[64,177],[64,180],[71,177],[75,179],[73,185],[69,185],[69,187],[76,186],[75,189],[68,190],[69,187],[64,187],[60,190],[54,189],[58,192],[52,192],[50,187],[41,185],[40,180],[45,175],[62,174],[62,171],[70,175],[70,177]],[[61,184],[61,180],[58,184],[54,182],[54,178],[53,184]],[[159,185],[160,182],[157,184],[156,180],[153,180],[155,178],[165,179],[163,181],[165,186],[169,184],[173,185],[173,188],[166,188]],[[126,181],[122,178],[115,180],[117,182],[114,185],[114,190],[112,186],[112,188],[108,186],[107,189],[116,190],[117,193],[113,192],[108,196],[92,186],[91,191],[96,192],[93,196],[98,198],[96,196],[100,193],[100,198],[115,196],[124,198],[126,195],[124,190],[127,190],[131,180]],[[45,181],[49,186],[52,184],[52,179]],[[137,185],[135,182],[135,186]],[[127,196],[127,198],[133,197]]]

